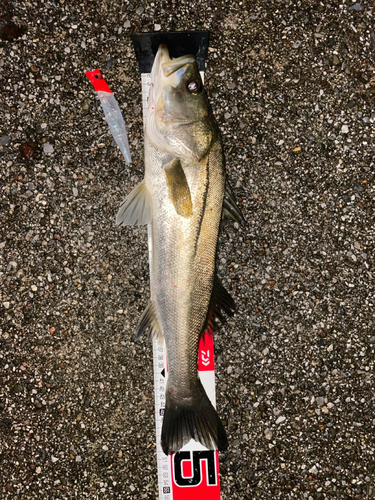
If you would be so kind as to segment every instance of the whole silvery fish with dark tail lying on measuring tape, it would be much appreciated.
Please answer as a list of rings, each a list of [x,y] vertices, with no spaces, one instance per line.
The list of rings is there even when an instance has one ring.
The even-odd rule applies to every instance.
[[[121,205],[118,225],[148,224],[151,297],[136,339],[165,340],[168,379],[161,445],[191,439],[226,450],[224,426],[197,370],[198,342],[234,301],[216,275],[222,218],[242,220],[226,186],[219,127],[193,55],[172,59],[160,45],[145,122],[145,177]]]

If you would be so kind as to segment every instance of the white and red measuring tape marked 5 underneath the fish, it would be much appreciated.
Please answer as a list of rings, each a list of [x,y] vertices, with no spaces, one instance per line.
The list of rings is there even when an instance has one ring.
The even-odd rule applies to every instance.
[[[145,33],[137,36],[147,37],[150,36],[150,34]],[[208,34],[206,37],[208,48]],[[136,45],[134,38],[133,42]],[[160,41],[160,43],[162,42]],[[159,44],[157,44],[157,46],[158,45]],[[137,47],[135,48],[137,52]],[[186,53],[188,53],[188,50]],[[140,67],[142,67],[141,64]],[[200,75],[203,82],[204,72],[200,71]],[[148,107],[148,95],[151,86],[151,73],[141,73],[141,81],[143,124],[145,124]],[[149,262],[151,263],[152,246],[150,226],[148,227],[148,248]],[[150,281],[151,279],[152,276],[150,266]],[[169,456],[165,455],[161,448],[161,429],[165,408],[165,388],[168,378],[168,363],[165,342],[162,346],[160,346],[157,341],[153,342],[153,361],[159,500],[220,500],[218,451],[207,450],[207,448],[194,440],[187,443],[179,452]],[[213,406],[216,407],[212,330],[206,332],[199,341],[198,373],[207,396],[211,400]]]

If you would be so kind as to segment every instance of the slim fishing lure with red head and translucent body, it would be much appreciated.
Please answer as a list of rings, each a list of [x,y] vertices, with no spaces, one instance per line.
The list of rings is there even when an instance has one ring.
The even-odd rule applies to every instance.
[[[98,69],[87,71],[85,74],[96,90],[114,140],[120,148],[126,163],[131,163],[125,122],[114,95]]]

